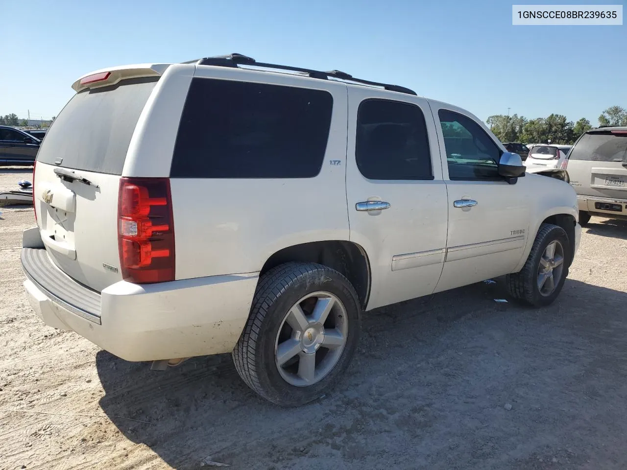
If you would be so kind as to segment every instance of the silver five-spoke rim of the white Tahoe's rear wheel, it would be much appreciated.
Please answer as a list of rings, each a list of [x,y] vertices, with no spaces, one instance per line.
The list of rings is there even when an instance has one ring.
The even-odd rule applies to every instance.
[[[346,310],[339,298],[324,291],[304,296],[288,310],[278,329],[278,372],[297,387],[319,382],[342,356],[347,335]]]

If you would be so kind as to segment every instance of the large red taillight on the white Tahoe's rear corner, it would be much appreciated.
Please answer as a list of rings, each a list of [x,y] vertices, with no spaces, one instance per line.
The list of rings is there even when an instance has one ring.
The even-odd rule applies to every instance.
[[[169,179],[120,179],[118,244],[122,277],[127,281],[174,281],[174,217]]]

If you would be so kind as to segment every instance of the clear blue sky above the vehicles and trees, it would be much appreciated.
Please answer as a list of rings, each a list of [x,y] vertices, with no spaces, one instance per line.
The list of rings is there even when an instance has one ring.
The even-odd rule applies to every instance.
[[[0,3],[2,115],[50,118],[98,68],[231,52],[408,86],[483,120],[509,107],[596,125],[605,108],[627,108],[627,25],[512,26],[512,2]]]

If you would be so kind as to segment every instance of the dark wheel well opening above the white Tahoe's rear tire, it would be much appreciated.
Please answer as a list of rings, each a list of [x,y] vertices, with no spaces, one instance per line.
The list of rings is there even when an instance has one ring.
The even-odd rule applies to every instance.
[[[272,254],[261,268],[260,276],[279,264],[318,263],[342,273],[353,285],[362,308],[370,296],[371,270],[366,250],[345,240],[325,240],[287,246]]]

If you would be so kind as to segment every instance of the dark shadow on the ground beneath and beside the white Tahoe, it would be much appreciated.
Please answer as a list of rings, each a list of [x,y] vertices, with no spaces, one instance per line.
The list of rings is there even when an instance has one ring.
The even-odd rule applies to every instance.
[[[545,468],[538,462],[557,458],[579,468],[599,442],[626,461],[627,294],[568,279],[547,308],[494,301],[505,297],[498,279],[364,314],[344,380],[297,409],[257,397],[230,355],[154,372],[104,351],[100,406],[180,470],[204,459],[432,470]]]

